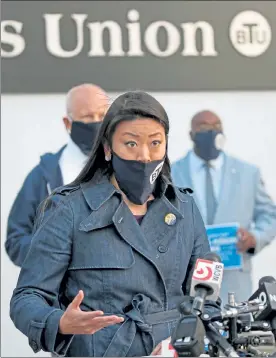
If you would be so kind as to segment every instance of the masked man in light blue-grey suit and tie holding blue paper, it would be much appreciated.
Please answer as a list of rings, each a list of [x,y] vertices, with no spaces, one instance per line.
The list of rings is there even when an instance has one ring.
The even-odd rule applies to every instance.
[[[243,268],[224,271],[221,298],[226,302],[231,291],[239,301],[246,300],[252,294],[251,259],[276,236],[276,206],[260,170],[223,152],[223,126],[215,113],[197,113],[190,136],[194,148],[172,165],[173,181],[194,190],[206,225],[239,223]]]

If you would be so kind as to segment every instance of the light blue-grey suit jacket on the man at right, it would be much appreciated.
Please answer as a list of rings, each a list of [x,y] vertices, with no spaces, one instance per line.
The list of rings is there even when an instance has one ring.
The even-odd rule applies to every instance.
[[[193,189],[189,156],[190,152],[186,157],[173,163],[172,178],[176,186]],[[257,254],[276,236],[276,206],[267,194],[260,170],[256,166],[225,155],[222,170],[222,184],[214,224],[239,222],[242,228],[255,236],[257,245],[254,254]],[[197,193],[194,192],[193,196],[201,210]],[[224,272],[221,291],[224,302],[227,300],[228,291],[235,292],[238,300],[245,300],[252,294],[252,256],[249,253],[244,254],[244,267],[239,272]]]

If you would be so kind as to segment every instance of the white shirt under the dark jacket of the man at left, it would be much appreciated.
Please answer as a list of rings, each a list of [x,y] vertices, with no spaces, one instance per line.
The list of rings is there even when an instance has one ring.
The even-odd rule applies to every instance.
[[[69,184],[79,175],[86,164],[86,156],[69,137],[67,146],[64,148],[59,159],[59,166],[63,178],[63,184]]]

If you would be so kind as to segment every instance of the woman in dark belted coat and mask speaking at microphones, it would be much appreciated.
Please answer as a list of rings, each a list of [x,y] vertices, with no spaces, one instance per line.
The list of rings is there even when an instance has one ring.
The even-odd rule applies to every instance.
[[[171,183],[168,133],[156,99],[119,96],[83,171],[46,200],[10,308],[34,352],[144,356],[171,335],[209,244]]]

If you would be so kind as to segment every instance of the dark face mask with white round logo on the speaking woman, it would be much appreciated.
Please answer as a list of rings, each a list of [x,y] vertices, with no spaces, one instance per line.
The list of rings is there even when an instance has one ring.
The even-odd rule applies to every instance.
[[[112,154],[112,166],[120,189],[134,204],[144,204],[153,193],[164,159],[142,163]]]

